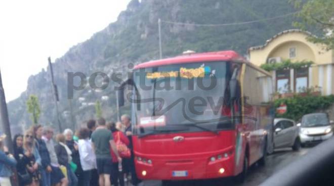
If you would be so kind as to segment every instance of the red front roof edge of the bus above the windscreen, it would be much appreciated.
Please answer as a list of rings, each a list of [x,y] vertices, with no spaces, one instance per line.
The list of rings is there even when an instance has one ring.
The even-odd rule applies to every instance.
[[[186,54],[174,58],[149,61],[136,65],[135,69],[181,64],[181,63],[196,63],[196,62],[200,63],[207,61],[231,61],[231,60],[247,62],[242,56],[240,56],[238,53],[234,51],[219,51],[219,52]]]

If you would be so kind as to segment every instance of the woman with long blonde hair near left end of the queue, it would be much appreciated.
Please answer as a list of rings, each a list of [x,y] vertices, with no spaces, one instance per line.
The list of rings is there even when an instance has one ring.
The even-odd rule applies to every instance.
[[[23,136],[23,162],[28,170],[31,177],[30,186],[38,186],[40,180],[40,173],[38,170],[38,163],[36,162],[37,157],[35,157],[37,149],[35,148],[34,135],[32,130],[27,130]],[[38,153],[38,152],[37,152]],[[39,157],[38,157],[39,158]]]

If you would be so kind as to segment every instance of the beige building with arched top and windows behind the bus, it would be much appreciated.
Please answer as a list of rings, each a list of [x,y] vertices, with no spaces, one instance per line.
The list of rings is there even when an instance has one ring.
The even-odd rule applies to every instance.
[[[334,94],[334,52],[308,41],[306,37],[310,34],[297,29],[286,30],[274,35],[264,45],[249,48],[249,61],[257,66],[287,59],[314,62],[310,67],[271,72],[277,92],[302,92],[319,86],[321,95]]]

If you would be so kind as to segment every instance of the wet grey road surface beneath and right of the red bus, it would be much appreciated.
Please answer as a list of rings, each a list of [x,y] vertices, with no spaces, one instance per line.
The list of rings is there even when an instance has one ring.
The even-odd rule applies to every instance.
[[[249,168],[246,181],[242,184],[237,183],[233,178],[221,178],[221,179],[210,179],[210,180],[194,180],[194,181],[178,181],[173,182],[173,185],[235,185],[235,186],[255,186],[262,183],[272,174],[278,170],[289,165],[291,162],[299,159],[308,153],[312,148],[303,148],[299,152],[294,152],[291,148],[287,149],[278,149],[275,152],[267,157],[267,164],[265,167],[258,165],[253,165]],[[159,180],[147,180],[143,182],[145,186],[159,186],[161,181]],[[128,184],[130,186],[131,184]]]

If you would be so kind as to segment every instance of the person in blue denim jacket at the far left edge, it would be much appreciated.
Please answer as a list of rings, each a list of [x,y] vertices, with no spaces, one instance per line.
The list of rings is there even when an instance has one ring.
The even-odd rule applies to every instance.
[[[8,148],[4,146],[5,138],[6,134],[0,131],[0,185],[11,186],[11,168],[15,168],[16,160],[14,156],[8,152]]]

